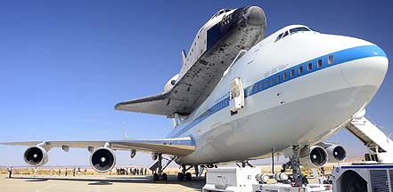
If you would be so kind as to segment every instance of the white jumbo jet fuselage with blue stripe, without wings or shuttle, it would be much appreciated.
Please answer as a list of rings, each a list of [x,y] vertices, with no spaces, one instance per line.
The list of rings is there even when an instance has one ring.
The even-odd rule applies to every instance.
[[[296,27],[282,28],[253,46],[168,135],[195,141],[195,151],[179,157],[178,164],[242,161],[272,148],[312,145],[338,132],[373,99],[388,69],[378,46],[314,31],[275,41]],[[231,116],[229,84],[236,77],[242,78],[246,96],[244,108]]]

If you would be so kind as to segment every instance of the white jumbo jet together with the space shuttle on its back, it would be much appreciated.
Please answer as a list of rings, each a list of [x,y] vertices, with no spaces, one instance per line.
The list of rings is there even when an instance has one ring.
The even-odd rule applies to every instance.
[[[12,142],[33,146],[27,164],[48,161],[51,148],[87,148],[97,172],[116,164],[114,150],[151,152],[158,169],[154,180],[167,180],[163,156],[183,167],[178,179],[191,180],[225,162],[276,155],[290,157],[294,181],[299,164],[320,167],[340,162],[346,151],[323,143],[352,120],[364,116],[387,73],[386,53],[362,39],[291,25],[265,37],[266,17],[248,6],[217,12],[195,36],[183,66],[164,92],[116,104],[115,109],[174,120],[168,138]]]

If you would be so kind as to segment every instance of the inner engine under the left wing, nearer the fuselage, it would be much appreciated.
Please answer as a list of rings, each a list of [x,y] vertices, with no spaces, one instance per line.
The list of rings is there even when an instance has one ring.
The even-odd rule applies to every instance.
[[[90,156],[90,165],[95,172],[109,172],[115,164],[116,156],[111,148],[97,148]]]

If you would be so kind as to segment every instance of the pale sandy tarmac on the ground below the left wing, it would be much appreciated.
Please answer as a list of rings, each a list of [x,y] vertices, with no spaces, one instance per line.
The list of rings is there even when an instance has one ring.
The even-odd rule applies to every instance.
[[[152,183],[151,176],[132,177],[25,177],[5,178],[0,176],[1,192],[121,192],[121,191],[201,191],[204,179],[192,178],[191,181],[178,181],[176,176],[169,176],[168,182]]]

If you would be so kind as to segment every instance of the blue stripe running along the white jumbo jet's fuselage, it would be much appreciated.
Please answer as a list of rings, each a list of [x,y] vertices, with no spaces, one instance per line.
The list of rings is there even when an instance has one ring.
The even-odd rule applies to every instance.
[[[333,56],[332,64],[328,64],[328,58],[329,56]],[[375,57],[375,56],[381,56],[381,57],[387,57],[386,53],[381,50],[380,47],[376,45],[364,45],[364,46],[358,46],[358,47],[353,47],[345,50],[341,50],[339,52],[332,52],[326,55],[323,55],[321,57],[315,58],[313,60],[307,60],[306,62],[300,63],[298,65],[295,65],[291,68],[287,68],[285,70],[282,70],[278,73],[275,73],[272,76],[268,76],[260,81],[258,81],[255,84],[251,84],[250,86],[244,88],[244,97],[250,97],[251,95],[254,95],[258,92],[263,92],[269,88],[272,88],[278,84],[285,83],[287,81],[291,81],[299,76],[306,76],[307,74],[313,73],[315,71],[321,70],[323,68],[329,68],[335,65],[339,65],[341,63],[345,63],[351,60],[358,60],[358,59],[363,59],[363,58],[368,58],[368,57]],[[317,61],[322,60],[322,66],[317,67]],[[312,63],[312,69],[308,70],[307,65],[309,63]],[[303,73],[299,73],[299,68],[303,67]],[[291,76],[291,70],[294,70],[293,76]],[[287,74],[287,78],[283,80],[282,76],[284,76],[284,73]],[[277,76],[280,76],[280,81],[277,82]],[[272,80],[273,79],[273,80]],[[267,86],[265,86],[265,82],[268,82]],[[273,84],[271,82],[273,81]],[[186,124],[183,128],[175,129],[174,132],[171,132],[168,137],[169,138],[174,138],[178,137],[184,132],[187,132],[190,130],[193,126],[196,124],[201,123],[201,121],[205,120],[209,116],[215,114],[217,111],[226,108],[229,106],[229,97],[226,97],[223,100],[218,101],[213,107],[209,108],[207,111],[205,111],[201,116],[198,116],[196,119],[194,119],[190,124]],[[229,111],[228,111],[229,113]]]

